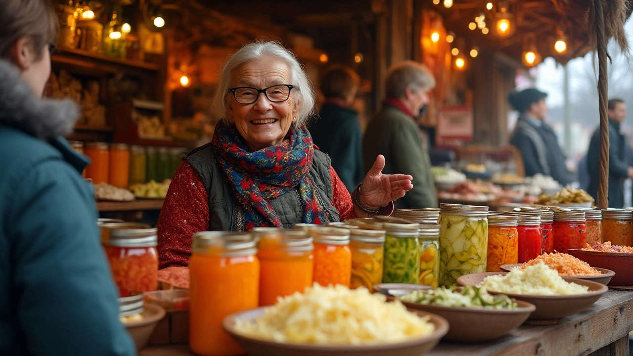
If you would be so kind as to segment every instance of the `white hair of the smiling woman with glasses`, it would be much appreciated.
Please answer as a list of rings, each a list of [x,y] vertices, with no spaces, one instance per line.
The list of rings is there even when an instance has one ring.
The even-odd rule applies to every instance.
[[[229,99],[232,98],[229,89],[233,71],[241,65],[264,57],[276,58],[290,68],[290,80],[292,82],[288,84],[296,87],[294,95],[299,99],[299,110],[294,125],[304,124],[313,113],[315,106],[314,89],[310,79],[308,79],[308,75],[306,75],[294,54],[276,41],[256,41],[246,44],[229,58],[222,68],[222,72],[220,72],[218,90],[213,97],[213,113],[216,117],[228,123],[227,105],[229,105]]]

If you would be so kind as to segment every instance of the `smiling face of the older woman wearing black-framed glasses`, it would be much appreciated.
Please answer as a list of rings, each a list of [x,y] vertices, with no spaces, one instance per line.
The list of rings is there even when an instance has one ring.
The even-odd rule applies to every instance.
[[[264,89],[278,84],[292,84],[290,69],[275,58],[261,58],[235,68],[231,87]],[[292,89],[290,98],[273,103],[261,93],[253,104],[240,104],[229,94],[227,115],[244,137],[251,151],[279,144],[284,140],[298,111],[298,101]]]

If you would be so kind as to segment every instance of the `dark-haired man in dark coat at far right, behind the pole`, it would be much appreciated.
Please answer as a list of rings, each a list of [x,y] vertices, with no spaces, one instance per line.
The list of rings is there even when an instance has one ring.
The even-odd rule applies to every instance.
[[[620,132],[620,125],[627,117],[627,106],[622,99],[611,99],[609,111],[609,207],[624,207],[624,181],[633,178],[633,167],[627,160],[626,137]],[[596,129],[587,151],[587,168],[589,168],[589,190],[591,196],[598,201],[598,182],[600,175],[600,128]]]

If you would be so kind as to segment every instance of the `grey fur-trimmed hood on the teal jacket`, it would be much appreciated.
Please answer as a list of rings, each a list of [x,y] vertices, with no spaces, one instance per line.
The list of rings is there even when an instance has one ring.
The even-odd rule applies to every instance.
[[[18,68],[0,60],[0,125],[47,140],[72,132],[78,117],[79,109],[72,100],[37,98],[20,78]]]

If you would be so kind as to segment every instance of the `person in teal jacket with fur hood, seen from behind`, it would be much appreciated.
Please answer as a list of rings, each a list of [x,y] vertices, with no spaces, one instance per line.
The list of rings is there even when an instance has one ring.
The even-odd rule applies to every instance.
[[[87,158],[61,138],[77,106],[41,99],[56,22],[48,0],[0,0],[0,355],[135,355]]]

